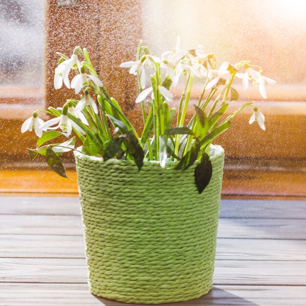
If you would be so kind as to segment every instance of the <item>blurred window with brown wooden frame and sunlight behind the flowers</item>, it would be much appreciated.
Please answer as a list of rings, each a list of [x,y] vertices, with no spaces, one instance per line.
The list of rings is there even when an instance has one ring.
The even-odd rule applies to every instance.
[[[248,110],[219,138],[227,155],[223,196],[305,197],[306,1],[119,2],[120,9],[111,0],[0,0],[0,192],[57,193],[61,183],[61,192],[77,193],[71,156],[66,181],[45,169],[43,160],[29,163],[26,148],[35,146],[35,136],[20,133],[34,109],[65,101],[67,91],[52,88],[56,51],[70,54],[76,44],[87,46],[102,79],[137,125],[134,79],[118,66],[133,59],[140,38],[160,56],[179,35],[182,49],[202,44],[219,65],[250,60],[277,81],[266,87],[264,103],[258,88],[243,91],[235,84],[240,102],[231,107],[256,101],[267,130],[248,125]],[[195,87],[192,97],[198,92]]]

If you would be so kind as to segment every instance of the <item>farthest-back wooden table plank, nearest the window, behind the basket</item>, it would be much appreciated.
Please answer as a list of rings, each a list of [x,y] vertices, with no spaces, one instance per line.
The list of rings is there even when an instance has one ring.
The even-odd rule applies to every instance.
[[[78,197],[3,196],[0,203],[0,215],[80,215]],[[306,219],[305,208],[306,201],[223,199],[220,218]]]

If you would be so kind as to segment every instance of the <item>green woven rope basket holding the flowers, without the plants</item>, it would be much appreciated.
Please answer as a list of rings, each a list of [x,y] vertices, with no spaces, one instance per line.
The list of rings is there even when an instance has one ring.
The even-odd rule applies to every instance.
[[[136,304],[187,301],[213,284],[224,151],[211,146],[213,175],[202,194],[195,166],[175,170],[75,153],[88,284]]]

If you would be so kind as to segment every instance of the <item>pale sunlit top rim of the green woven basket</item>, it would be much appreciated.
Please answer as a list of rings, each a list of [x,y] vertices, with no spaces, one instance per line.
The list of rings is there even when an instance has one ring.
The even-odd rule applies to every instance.
[[[77,148],[79,151],[82,150],[82,147],[78,147]],[[91,160],[91,161],[100,161],[101,163],[134,163],[132,160],[122,160],[122,159],[116,159],[116,158],[110,158],[108,160],[104,160],[103,157],[98,157],[98,156],[90,156],[90,155],[85,155],[82,154],[78,151],[74,151],[74,156],[84,159],[84,160]],[[210,145],[209,147],[209,157],[211,161],[214,161],[215,159],[218,159],[219,156],[224,155],[224,149],[219,146],[219,145]],[[144,160],[144,165],[159,165],[159,161],[158,160]],[[171,165],[175,165],[176,163],[178,163],[178,161],[166,161],[166,166],[171,166]]]

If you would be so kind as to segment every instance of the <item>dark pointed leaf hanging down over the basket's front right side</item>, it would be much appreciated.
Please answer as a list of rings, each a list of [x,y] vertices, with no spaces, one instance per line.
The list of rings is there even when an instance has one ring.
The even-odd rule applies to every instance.
[[[195,181],[197,185],[197,191],[199,194],[203,192],[205,187],[209,184],[213,174],[213,166],[206,153],[202,153],[201,162],[195,169]]]

